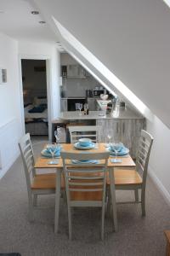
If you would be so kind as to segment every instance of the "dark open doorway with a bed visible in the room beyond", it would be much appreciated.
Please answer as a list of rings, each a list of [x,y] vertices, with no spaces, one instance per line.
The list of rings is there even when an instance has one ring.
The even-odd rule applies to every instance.
[[[21,59],[26,133],[48,137],[48,93],[45,60]]]

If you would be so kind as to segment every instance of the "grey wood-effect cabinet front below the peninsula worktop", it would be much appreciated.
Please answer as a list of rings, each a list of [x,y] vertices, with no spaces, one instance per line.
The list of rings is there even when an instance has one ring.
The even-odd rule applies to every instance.
[[[145,119],[97,119],[96,125],[102,127],[99,134],[100,143],[108,143],[108,134],[111,142],[122,142],[129,148],[130,154],[136,158],[139,137],[142,129],[145,129]]]

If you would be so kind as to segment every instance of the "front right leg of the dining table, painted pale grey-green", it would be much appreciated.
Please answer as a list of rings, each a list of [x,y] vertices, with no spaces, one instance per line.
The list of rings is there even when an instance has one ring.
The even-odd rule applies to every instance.
[[[116,190],[115,190],[115,177],[114,177],[114,168],[109,168],[109,176],[110,176],[110,188],[111,188],[111,205],[113,212],[113,223],[115,227],[115,231],[117,231],[117,217],[116,217]]]

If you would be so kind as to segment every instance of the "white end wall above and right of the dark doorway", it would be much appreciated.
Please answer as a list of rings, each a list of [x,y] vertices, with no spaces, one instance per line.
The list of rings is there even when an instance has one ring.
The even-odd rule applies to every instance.
[[[59,52],[54,44],[37,44],[19,42],[20,58],[47,60],[47,89],[48,89],[48,134],[51,138],[51,120],[56,119],[60,112],[59,98]]]

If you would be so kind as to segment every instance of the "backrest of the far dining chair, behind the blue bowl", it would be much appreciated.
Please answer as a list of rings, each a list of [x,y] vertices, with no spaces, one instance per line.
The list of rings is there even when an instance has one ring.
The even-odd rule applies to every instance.
[[[71,143],[77,143],[82,137],[91,138],[94,143],[98,142],[100,126],[69,126]]]

